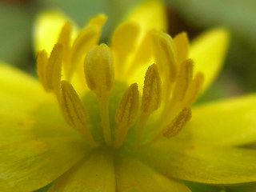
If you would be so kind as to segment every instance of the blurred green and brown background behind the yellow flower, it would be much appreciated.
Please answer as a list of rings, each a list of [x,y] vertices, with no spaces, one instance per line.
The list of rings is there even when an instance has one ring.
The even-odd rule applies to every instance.
[[[0,60],[35,75],[32,32],[42,10],[62,10],[83,26],[91,16],[105,13],[108,22],[103,41],[124,15],[142,0],[0,0]],[[166,0],[171,35],[186,30],[193,39],[203,30],[225,26],[231,43],[217,81],[198,102],[208,102],[256,90],[256,1],[255,0]],[[224,191],[215,186],[187,183],[193,191]],[[228,187],[226,192],[256,191],[255,186]]]

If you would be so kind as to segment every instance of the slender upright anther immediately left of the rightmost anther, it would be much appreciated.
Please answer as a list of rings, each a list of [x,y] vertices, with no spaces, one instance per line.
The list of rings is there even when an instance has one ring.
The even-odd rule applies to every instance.
[[[174,86],[174,94],[171,104],[174,104],[174,102],[181,102],[185,97],[186,90],[192,81],[193,67],[193,60],[191,59],[186,59],[181,63],[178,78]]]

